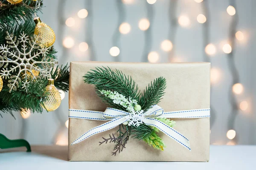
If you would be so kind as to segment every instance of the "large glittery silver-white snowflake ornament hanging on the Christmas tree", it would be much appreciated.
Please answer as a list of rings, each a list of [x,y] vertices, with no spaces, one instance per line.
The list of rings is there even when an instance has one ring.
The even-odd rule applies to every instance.
[[[42,78],[51,77],[49,69],[57,63],[47,57],[51,47],[41,48],[36,43],[38,37],[29,37],[24,32],[18,38],[8,32],[6,34],[8,45],[0,45],[0,67],[3,67],[0,75],[9,79],[10,92],[17,90],[20,82],[22,88],[26,88],[29,80],[36,79],[38,75]]]

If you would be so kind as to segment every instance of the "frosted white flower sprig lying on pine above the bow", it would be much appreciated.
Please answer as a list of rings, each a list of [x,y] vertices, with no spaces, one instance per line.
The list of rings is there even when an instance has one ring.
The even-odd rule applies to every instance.
[[[128,99],[123,96],[122,94],[119,94],[116,91],[105,91],[105,90],[101,90],[100,91],[101,94],[104,94],[106,97],[108,97],[109,99],[113,100],[113,103],[117,104],[117,105],[121,105],[122,107],[124,107],[129,113],[134,113],[134,106],[138,104],[138,101],[135,99],[131,99],[131,97],[129,96]]]

